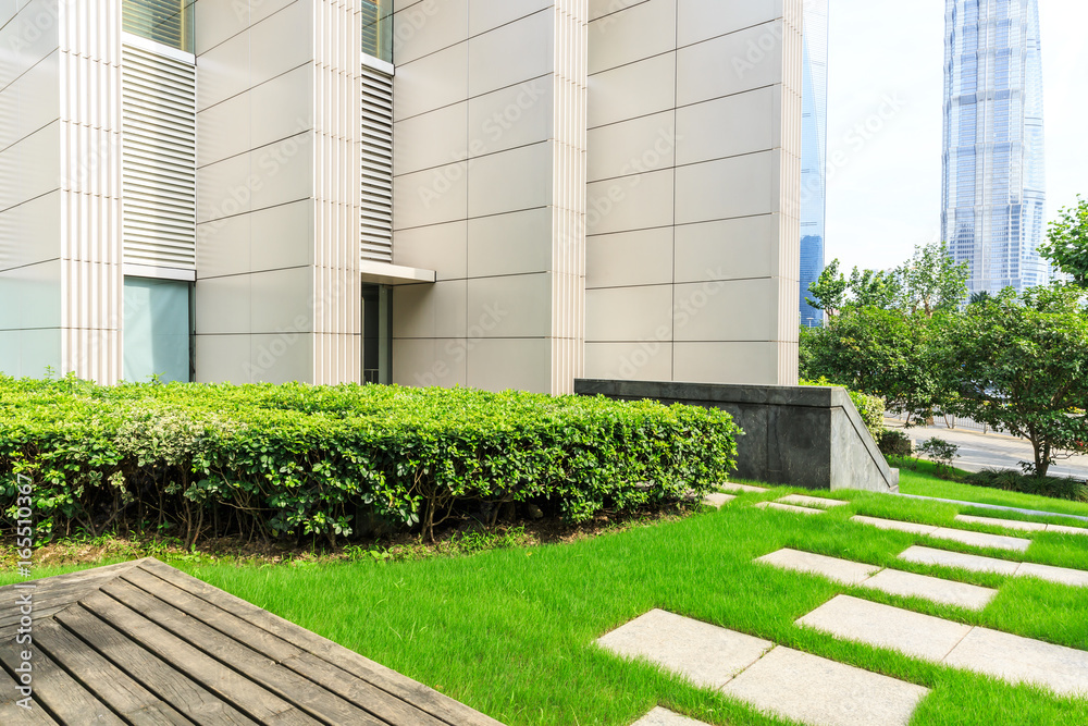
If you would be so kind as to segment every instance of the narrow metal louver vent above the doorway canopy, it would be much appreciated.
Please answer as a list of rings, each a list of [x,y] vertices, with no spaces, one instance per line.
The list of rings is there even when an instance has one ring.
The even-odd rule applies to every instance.
[[[393,262],[393,78],[362,69],[362,259]]]

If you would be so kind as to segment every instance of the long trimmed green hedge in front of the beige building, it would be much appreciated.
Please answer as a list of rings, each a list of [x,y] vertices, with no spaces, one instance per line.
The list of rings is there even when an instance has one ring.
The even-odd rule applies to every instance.
[[[123,384],[0,376],[0,504],[34,482],[39,540],[180,527],[351,537],[532,502],[571,521],[703,493],[735,464],[725,413],[468,389]]]

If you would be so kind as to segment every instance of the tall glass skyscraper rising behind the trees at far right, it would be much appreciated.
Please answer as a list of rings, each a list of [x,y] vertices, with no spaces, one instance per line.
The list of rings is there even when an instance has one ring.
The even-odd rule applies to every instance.
[[[972,293],[1050,279],[1039,36],[1038,0],[947,0],[941,226]]]

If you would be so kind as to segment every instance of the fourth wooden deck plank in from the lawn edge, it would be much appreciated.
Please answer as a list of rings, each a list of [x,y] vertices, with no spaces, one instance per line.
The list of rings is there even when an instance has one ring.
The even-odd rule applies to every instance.
[[[103,592],[81,604],[254,721],[300,726],[320,723]]]

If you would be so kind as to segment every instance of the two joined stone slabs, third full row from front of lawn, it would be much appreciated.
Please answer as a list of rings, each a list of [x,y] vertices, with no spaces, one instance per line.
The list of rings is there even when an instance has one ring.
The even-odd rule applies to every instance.
[[[980,588],[976,585],[904,573],[898,569],[885,569],[876,565],[865,565],[799,550],[779,550],[758,557],[756,562],[763,562],[781,569],[819,575],[840,585],[861,586],[904,598],[923,598],[967,610],[982,610],[998,594],[997,590]]]

